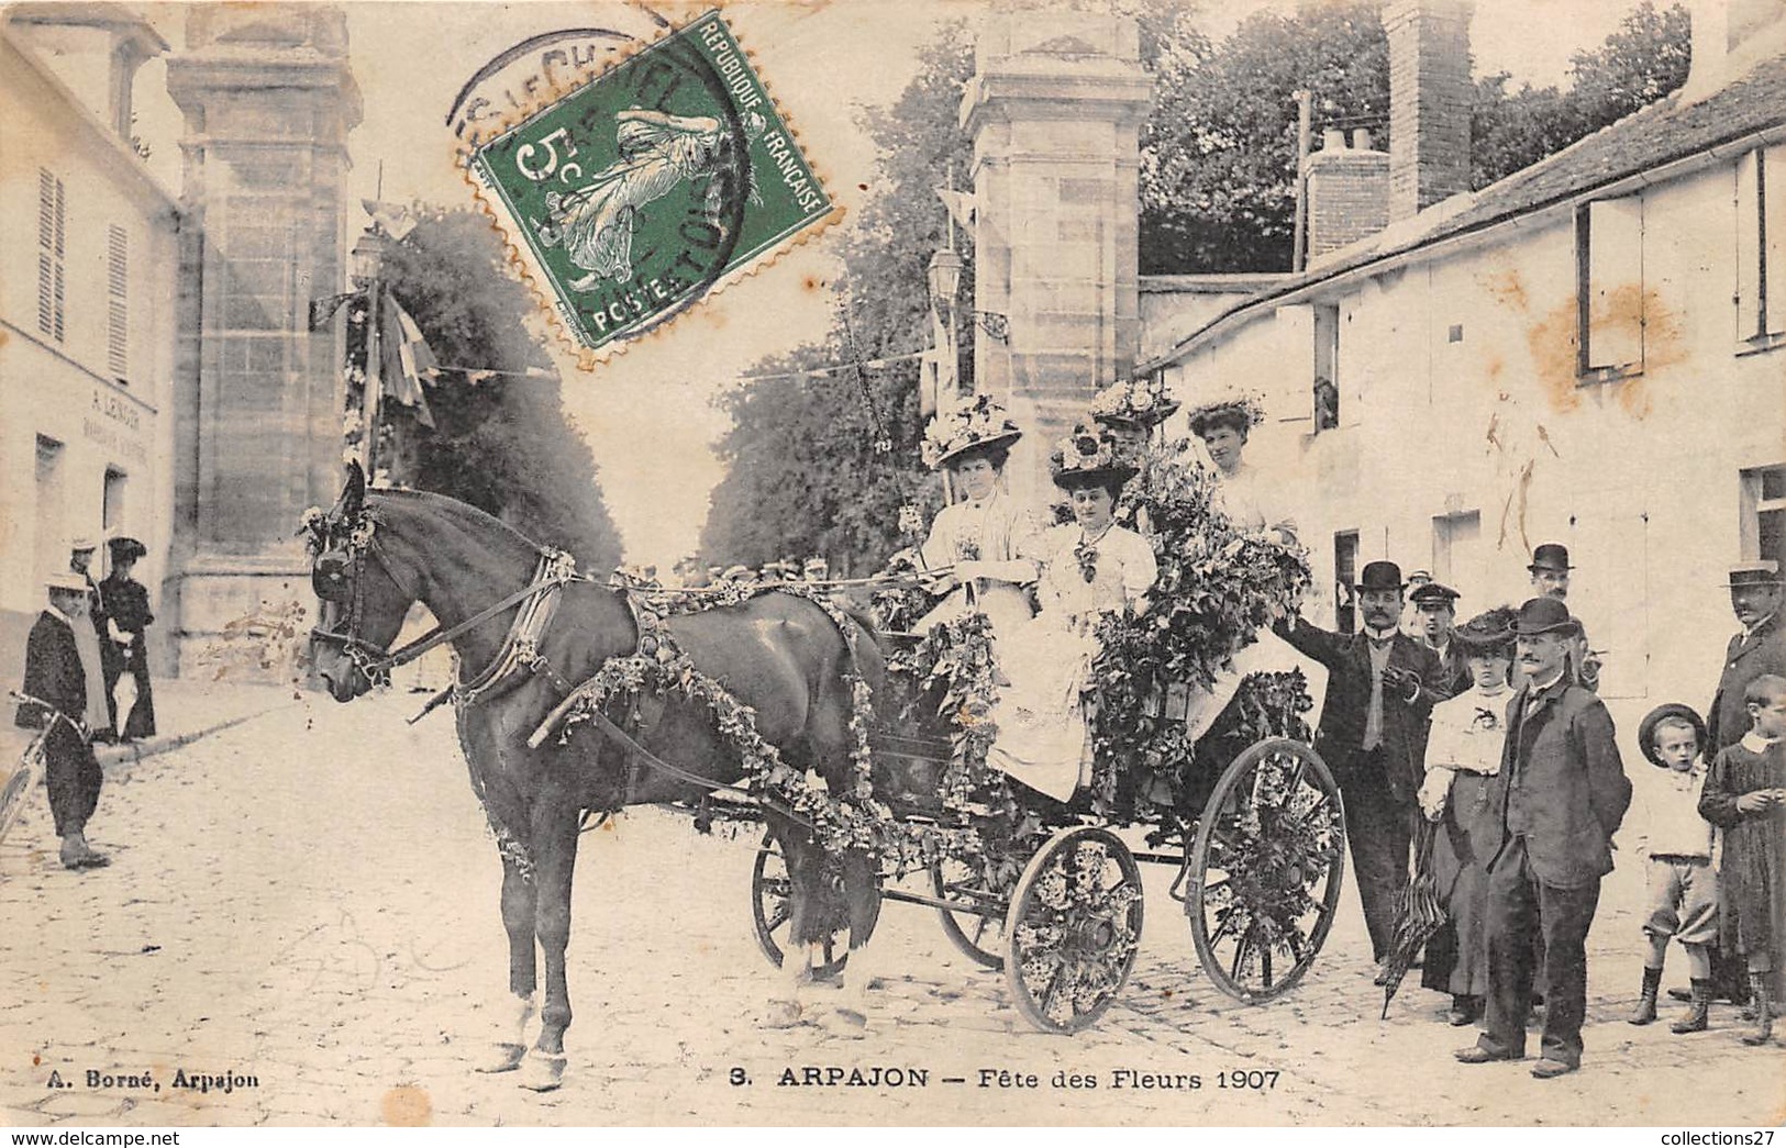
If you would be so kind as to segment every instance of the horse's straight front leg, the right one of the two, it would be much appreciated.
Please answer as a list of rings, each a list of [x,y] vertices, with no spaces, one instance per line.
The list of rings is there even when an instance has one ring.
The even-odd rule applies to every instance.
[[[547,1093],[564,1080],[564,1030],[570,1028],[570,984],[564,950],[570,948],[570,886],[577,868],[577,802],[548,784],[534,802],[534,936],[547,964],[539,1041],[522,1066],[522,1087]],[[529,966],[530,975],[530,966]]]

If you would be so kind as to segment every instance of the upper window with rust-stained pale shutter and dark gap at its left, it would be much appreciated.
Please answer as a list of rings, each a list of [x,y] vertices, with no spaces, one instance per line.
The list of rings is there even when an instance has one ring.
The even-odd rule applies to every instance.
[[[1643,196],[1595,200],[1575,214],[1582,379],[1643,370]]]

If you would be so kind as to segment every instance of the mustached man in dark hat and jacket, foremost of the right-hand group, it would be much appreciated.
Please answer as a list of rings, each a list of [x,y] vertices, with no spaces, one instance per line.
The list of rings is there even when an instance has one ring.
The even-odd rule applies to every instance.
[[[1532,934],[1545,941],[1540,1080],[1581,1068],[1588,1011],[1588,927],[1613,834],[1631,805],[1606,703],[1568,673],[1581,627],[1557,598],[1532,598],[1515,625],[1525,686],[1507,703],[1507,745],[1490,803],[1500,844],[1488,862],[1488,1030],[1457,1050],[1465,1064],[1525,1055]]]

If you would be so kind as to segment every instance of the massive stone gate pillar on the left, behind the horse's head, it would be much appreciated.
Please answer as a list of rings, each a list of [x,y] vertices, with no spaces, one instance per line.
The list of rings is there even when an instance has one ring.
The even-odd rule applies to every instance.
[[[186,114],[175,577],[180,652],[307,600],[293,530],[341,484],[341,341],[309,302],[345,284],[359,87],[334,4],[193,5],[168,61]]]

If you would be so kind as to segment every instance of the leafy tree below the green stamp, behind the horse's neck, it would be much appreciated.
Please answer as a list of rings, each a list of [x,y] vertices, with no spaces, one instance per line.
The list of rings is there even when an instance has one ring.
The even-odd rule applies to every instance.
[[[384,261],[391,293],[443,364],[513,373],[473,380],[445,371],[427,391],[432,432],[396,414],[404,477],[570,550],[586,570],[613,570],[620,534],[602,502],[589,445],[564,421],[552,359],[529,329],[527,289],[505,271],[497,234],[480,214],[420,212]]]

